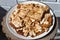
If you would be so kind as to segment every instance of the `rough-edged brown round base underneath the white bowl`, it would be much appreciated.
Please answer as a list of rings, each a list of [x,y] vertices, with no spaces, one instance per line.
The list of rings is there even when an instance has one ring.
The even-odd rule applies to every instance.
[[[8,40],[23,40],[21,38],[17,38],[16,36],[14,36],[9,30],[8,28],[6,27],[6,18],[4,17],[3,18],[3,22],[2,22],[2,31],[6,34],[6,37],[8,38]],[[38,39],[38,40],[50,40],[50,39],[53,39],[55,37],[55,34],[56,34],[56,29],[57,29],[57,26],[54,27],[54,29],[52,30],[51,33],[49,33],[47,36],[41,38],[41,39]]]

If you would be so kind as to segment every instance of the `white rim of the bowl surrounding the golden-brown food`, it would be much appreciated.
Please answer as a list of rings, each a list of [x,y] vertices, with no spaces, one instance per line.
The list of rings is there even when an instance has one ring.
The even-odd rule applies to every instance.
[[[30,4],[30,3],[46,5],[45,3],[36,2],[36,1],[25,1],[25,2],[22,2],[22,3],[20,3],[20,4]],[[48,5],[47,5],[47,6],[48,6]],[[9,12],[7,13],[7,15],[6,15],[6,25],[7,25],[7,28],[9,29],[9,31],[10,31],[13,35],[15,35],[16,37],[22,38],[22,39],[38,39],[38,38],[42,38],[42,37],[46,36],[46,35],[49,34],[50,31],[53,29],[54,23],[55,23],[55,16],[54,16],[54,13],[52,12],[52,9],[49,7],[49,8],[50,8],[50,11],[51,11],[51,14],[53,15],[53,20],[54,20],[54,21],[53,21],[53,25],[51,26],[51,28],[49,28],[49,29],[50,29],[49,32],[44,33],[44,34],[42,33],[43,36],[38,35],[38,36],[36,36],[36,37],[34,37],[34,38],[22,37],[22,36],[20,36],[19,34],[14,33],[14,31],[12,30],[13,28],[11,29],[10,26],[8,25],[8,18],[9,18],[8,16],[12,14],[14,8],[16,8],[16,5],[15,5],[14,7],[12,7],[12,8],[9,10]],[[12,12],[11,12],[11,11],[12,11]],[[10,14],[9,14],[9,13],[10,13]],[[18,35],[19,35],[19,36],[18,36]]]

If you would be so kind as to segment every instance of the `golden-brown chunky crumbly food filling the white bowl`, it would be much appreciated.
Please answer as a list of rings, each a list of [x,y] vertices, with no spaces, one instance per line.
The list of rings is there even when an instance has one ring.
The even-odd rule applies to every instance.
[[[48,6],[39,4],[18,4],[9,17],[9,25],[23,36],[35,37],[49,30],[52,15]]]

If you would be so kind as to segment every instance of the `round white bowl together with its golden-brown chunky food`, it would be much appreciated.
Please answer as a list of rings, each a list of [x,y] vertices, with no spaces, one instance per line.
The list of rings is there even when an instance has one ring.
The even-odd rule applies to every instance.
[[[6,16],[9,31],[22,39],[45,37],[53,29],[54,23],[55,16],[50,7],[35,1],[17,4]]]

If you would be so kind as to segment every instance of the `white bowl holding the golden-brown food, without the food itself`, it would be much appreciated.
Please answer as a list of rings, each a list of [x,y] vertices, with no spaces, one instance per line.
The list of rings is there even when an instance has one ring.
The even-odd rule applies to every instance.
[[[43,6],[46,6],[46,4],[43,4],[43,3],[41,3],[41,2],[36,2],[36,1],[26,1],[26,2],[23,2],[23,3],[21,3],[21,4],[30,4],[30,3],[34,3],[34,4],[40,4],[40,5],[43,5]],[[54,16],[54,14],[53,14],[53,12],[52,12],[52,10],[50,9],[50,13],[51,13],[51,15],[52,15],[52,19],[53,19],[53,22],[52,22],[52,26],[49,28],[49,30],[48,30],[48,32],[44,32],[44,33],[42,33],[42,34],[40,34],[40,35],[38,35],[38,36],[36,36],[36,37],[24,37],[24,36],[22,36],[22,35],[19,35],[12,27],[10,27],[10,25],[9,25],[9,16],[11,15],[11,13],[14,11],[14,9],[16,9],[16,6],[14,6],[12,9],[10,9],[10,11],[7,13],[7,16],[6,16],[6,25],[7,25],[7,27],[8,27],[8,29],[9,29],[9,31],[13,34],[13,35],[15,35],[16,37],[18,37],[18,38],[22,38],[22,39],[38,39],[38,38],[42,38],[42,37],[44,37],[44,36],[46,36],[48,33],[50,33],[50,31],[53,29],[53,27],[54,27],[54,23],[55,23],[55,16]]]

